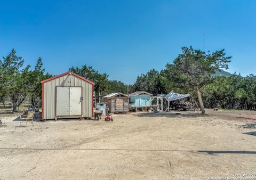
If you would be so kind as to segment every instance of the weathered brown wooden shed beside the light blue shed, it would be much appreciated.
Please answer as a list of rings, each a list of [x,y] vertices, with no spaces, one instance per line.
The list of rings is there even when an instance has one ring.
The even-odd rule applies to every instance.
[[[128,112],[129,97],[123,93],[112,93],[103,97],[110,112]]]

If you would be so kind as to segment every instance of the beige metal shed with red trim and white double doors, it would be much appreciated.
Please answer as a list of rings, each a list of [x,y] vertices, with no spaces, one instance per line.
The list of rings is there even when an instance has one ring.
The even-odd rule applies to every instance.
[[[93,86],[74,72],[41,81],[42,119],[93,117]]]

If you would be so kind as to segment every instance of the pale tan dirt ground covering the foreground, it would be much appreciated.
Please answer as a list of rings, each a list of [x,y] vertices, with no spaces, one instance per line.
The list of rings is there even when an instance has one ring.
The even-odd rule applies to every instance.
[[[209,179],[256,174],[255,111],[114,114],[34,127],[3,117],[0,179]],[[1,118],[1,114],[0,114]],[[249,134],[245,134],[249,133]],[[256,178],[256,176],[254,176]]]

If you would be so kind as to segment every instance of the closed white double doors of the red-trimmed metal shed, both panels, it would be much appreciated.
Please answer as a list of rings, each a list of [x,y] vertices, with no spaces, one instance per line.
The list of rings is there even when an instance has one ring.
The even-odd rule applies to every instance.
[[[82,87],[57,87],[56,116],[82,115]]]

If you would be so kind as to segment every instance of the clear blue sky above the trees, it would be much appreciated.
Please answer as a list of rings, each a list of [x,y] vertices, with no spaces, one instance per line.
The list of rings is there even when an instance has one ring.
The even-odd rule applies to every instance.
[[[256,1],[0,1],[0,56],[38,56],[54,75],[87,64],[132,84],[192,45],[225,48],[229,72],[256,74]]]

